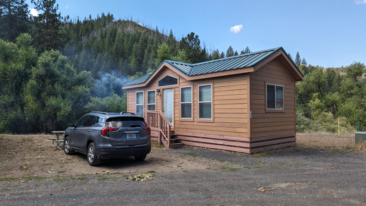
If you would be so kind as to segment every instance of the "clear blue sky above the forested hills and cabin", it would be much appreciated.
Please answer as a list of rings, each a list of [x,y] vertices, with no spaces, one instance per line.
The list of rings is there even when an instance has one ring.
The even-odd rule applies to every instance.
[[[30,8],[34,5],[26,0]],[[251,51],[283,47],[308,64],[366,64],[366,0],[141,1],[56,0],[61,16],[96,18],[110,12],[156,26],[177,40],[194,32],[207,49]],[[242,25],[242,26],[240,26]],[[236,26],[236,27],[235,27]],[[238,28],[231,30],[231,27]]]

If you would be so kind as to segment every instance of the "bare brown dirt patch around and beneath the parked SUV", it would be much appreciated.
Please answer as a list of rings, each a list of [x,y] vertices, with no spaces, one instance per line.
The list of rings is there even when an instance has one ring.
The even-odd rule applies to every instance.
[[[86,155],[78,152],[75,155],[66,155],[63,150],[52,147],[52,140],[48,140],[49,137],[52,135],[9,135],[0,140],[2,156],[0,177],[69,177],[106,171],[127,175],[147,173],[150,170],[170,172],[177,166],[184,166],[186,170],[207,167],[201,161],[193,161],[195,158],[189,154],[163,155],[168,149],[158,147],[156,142],[153,142],[156,145],[143,162],[127,157],[103,160],[100,166],[92,167],[87,162]],[[146,161],[149,162],[148,168],[144,164]]]

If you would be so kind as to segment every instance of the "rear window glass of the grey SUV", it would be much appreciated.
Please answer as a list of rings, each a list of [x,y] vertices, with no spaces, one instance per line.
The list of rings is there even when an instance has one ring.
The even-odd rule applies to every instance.
[[[143,118],[140,117],[111,117],[105,122],[106,127],[138,127],[146,126]]]

